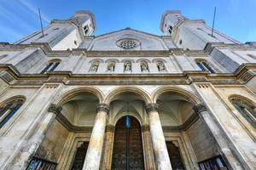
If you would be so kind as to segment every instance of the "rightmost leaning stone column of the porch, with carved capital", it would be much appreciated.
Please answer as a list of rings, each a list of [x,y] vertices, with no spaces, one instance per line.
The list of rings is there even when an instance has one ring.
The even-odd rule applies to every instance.
[[[204,104],[198,104],[193,107],[194,111],[199,114],[201,120],[207,125],[209,131],[212,133],[213,138],[216,140],[222,156],[227,163],[229,169],[240,170],[241,167],[240,161],[237,160],[236,156],[232,149],[230,148],[229,141],[226,139],[221,128],[218,127],[218,124],[214,121],[211,115],[207,112],[207,107]]]

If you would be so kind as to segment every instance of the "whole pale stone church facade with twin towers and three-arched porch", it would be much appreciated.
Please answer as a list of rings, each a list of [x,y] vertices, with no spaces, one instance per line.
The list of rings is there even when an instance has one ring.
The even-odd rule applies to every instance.
[[[166,11],[91,36],[89,11],[0,43],[1,170],[256,169],[256,43]]]

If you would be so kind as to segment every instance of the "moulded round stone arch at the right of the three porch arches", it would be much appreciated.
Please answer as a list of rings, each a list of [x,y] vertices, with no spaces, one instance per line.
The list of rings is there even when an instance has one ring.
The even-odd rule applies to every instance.
[[[152,97],[153,103],[156,103],[160,95],[166,94],[166,93],[180,95],[185,99],[187,99],[189,102],[191,102],[193,105],[201,103],[200,99],[193,92],[190,92],[184,88],[173,87],[173,86],[160,87],[154,90],[153,97]]]

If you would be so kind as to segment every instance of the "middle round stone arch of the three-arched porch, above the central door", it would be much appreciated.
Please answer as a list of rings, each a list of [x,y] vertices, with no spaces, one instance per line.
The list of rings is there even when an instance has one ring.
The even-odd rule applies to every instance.
[[[136,88],[136,87],[121,87],[121,88],[115,88],[111,93],[109,93],[104,99],[104,103],[110,104],[111,101],[114,99],[114,97],[119,96],[120,94],[126,94],[126,93],[131,93],[131,94],[137,94],[139,97],[143,99],[145,104],[151,103],[151,99],[145,91],[141,88]]]

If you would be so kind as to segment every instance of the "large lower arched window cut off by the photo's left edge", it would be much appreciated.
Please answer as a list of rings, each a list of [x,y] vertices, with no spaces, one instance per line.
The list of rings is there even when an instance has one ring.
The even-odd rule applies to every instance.
[[[23,105],[25,99],[18,98],[10,100],[9,102],[4,102],[0,106],[0,128],[9,121],[9,119],[15,115],[15,113],[20,109],[21,105]]]

